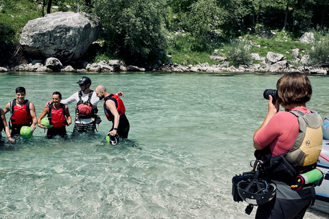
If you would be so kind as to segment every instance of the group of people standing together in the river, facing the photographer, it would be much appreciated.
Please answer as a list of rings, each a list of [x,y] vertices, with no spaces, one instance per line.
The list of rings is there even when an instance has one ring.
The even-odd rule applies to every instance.
[[[16,88],[16,99],[7,103],[3,109],[0,108],[0,131],[5,131],[10,142],[14,142],[15,138],[20,136],[22,127],[31,127],[32,131],[34,131],[36,125],[42,129],[47,129],[49,138],[53,136],[64,137],[66,136],[66,126],[72,123],[67,105],[75,101],[75,125],[72,135],[94,133],[96,125],[101,122],[101,118],[97,115],[97,103],[103,99],[103,110],[106,118],[112,122],[112,128],[108,132],[108,136],[127,138],[130,124],[125,116],[123,101],[119,97],[123,96],[123,92],[110,94],[105,86],[102,85],[97,86],[95,91],[90,90],[91,80],[88,77],[82,77],[77,81],[77,84],[80,86],[80,90],[67,99],[62,99],[60,92],[53,92],[52,100],[46,103],[45,109],[38,118],[34,104],[25,99],[25,88]],[[10,112],[10,119],[7,123],[5,114],[8,112]],[[49,118],[51,128],[47,128],[42,123],[42,118],[45,116]]]

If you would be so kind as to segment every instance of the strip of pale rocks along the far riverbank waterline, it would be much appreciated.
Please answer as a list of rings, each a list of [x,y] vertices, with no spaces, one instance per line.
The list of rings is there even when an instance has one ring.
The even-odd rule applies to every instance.
[[[273,54],[272,54],[273,55]],[[280,55],[280,54],[279,54]],[[188,66],[177,64],[175,62],[169,62],[166,64],[156,64],[154,66],[138,67],[132,65],[126,65],[120,60],[101,61],[97,63],[84,62],[82,68],[77,68],[72,65],[63,66],[60,60],[56,58],[48,58],[47,60],[29,60],[27,64],[20,64],[19,66],[0,66],[0,72],[62,72],[62,73],[109,73],[109,72],[162,72],[162,73],[291,73],[300,72],[306,74],[319,74],[328,75],[329,68],[321,68],[315,66],[294,66],[289,60],[273,61],[269,57],[264,60],[263,64],[252,64],[250,66],[240,65],[235,67],[230,66],[229,62],[223,62],[222,64],[210,65],[208,62],[204,64]],[[81,64],[79,64],[81,65]]]

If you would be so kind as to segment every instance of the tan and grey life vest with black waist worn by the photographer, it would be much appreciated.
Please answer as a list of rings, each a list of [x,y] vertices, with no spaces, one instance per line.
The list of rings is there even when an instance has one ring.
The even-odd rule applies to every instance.
[[[317,112],[305,114],[300,111],[291,111],[297,116],[300,133],[288,153],[271,156],[271,150],[267,146],[263,150],[256,150],[255,157],[263,161],[263,172],[269,179],[277,179],[292,185],[295,177],[313,170],[317,166],[317,159],[322,146],[322,119]]]

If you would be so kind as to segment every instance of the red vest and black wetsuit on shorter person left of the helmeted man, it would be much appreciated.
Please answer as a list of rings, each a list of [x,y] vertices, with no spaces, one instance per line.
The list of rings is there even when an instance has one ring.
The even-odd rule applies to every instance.
[[[65,117],[65,105],[60,103],[60,108],[55,110],[53,103],[49,105],[48,117],[51,118],[51,127],[47,129],[47,136],[52,138],[53,136],[66,136],[66,117]]]

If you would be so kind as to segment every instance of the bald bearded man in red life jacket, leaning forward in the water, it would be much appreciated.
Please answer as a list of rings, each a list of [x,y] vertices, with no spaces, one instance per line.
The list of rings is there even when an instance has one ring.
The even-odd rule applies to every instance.
[[[104,100],[103,108],[109,121],[112,121],[112,128],[108,132],[110,136],[118,134],[121,138],[128,138],[130,124],[125,116],[125,105],[117,94],[109,94],[102,85],[95,90],[99,100]],[[121,92],[122,93],[122,92]]]

